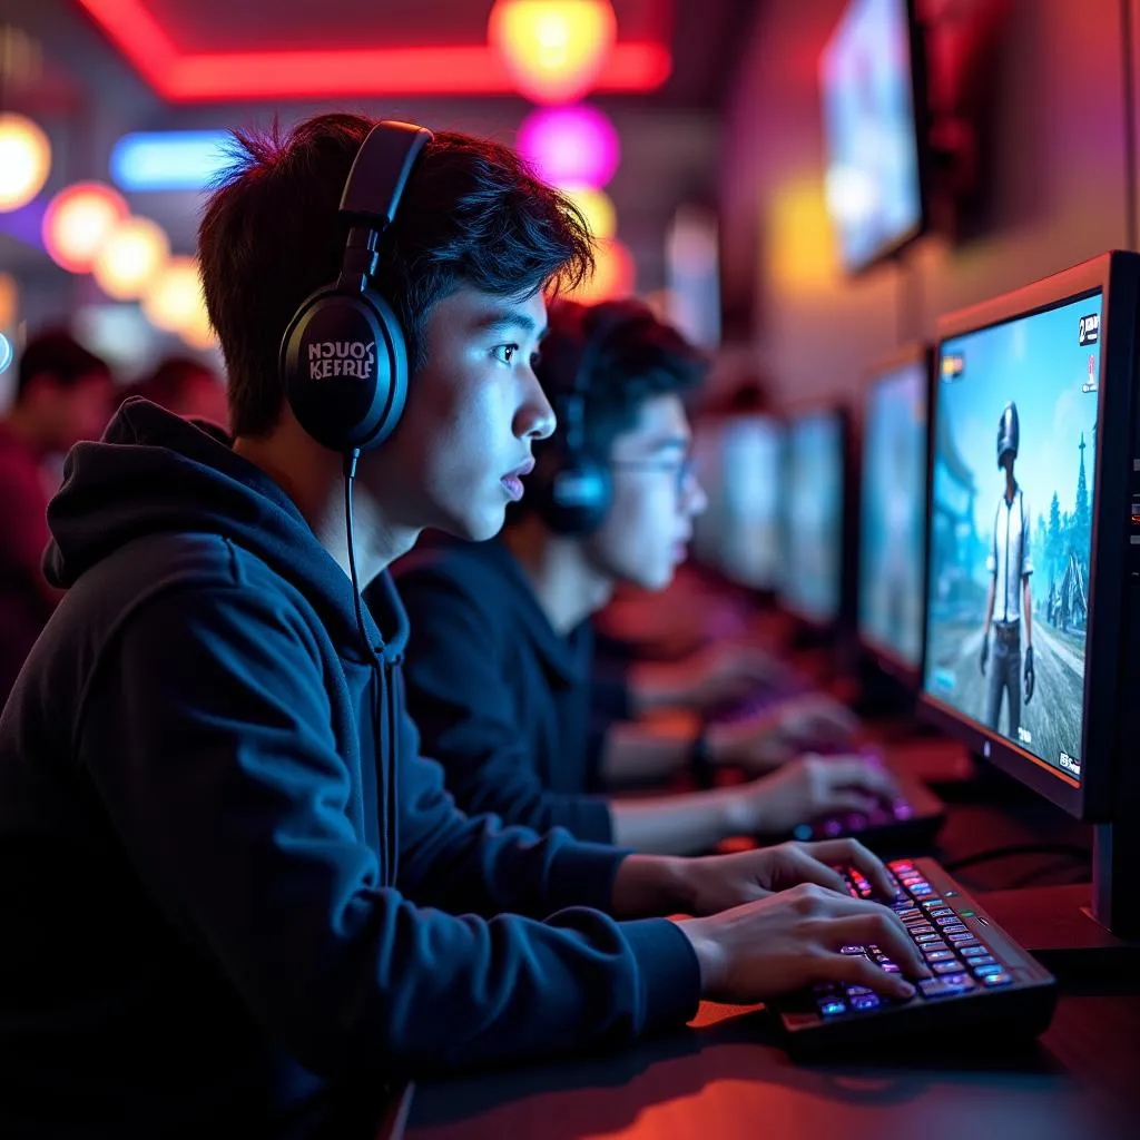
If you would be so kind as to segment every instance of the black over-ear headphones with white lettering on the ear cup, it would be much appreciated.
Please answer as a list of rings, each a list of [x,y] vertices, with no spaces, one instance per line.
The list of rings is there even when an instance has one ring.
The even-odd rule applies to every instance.
[[[341,275],[306,298],[282,340],[280,376],[293,415],[353,466],[357,454],[392,433],[407,397],[404,329],[373,276],[381,235],[431,139],[423,127],[390,120],[369,131],[341,195],[341,217],[351,223]]]

